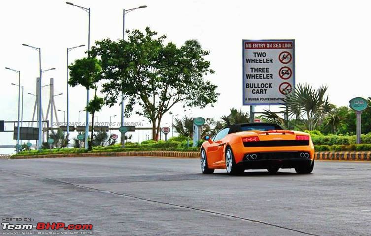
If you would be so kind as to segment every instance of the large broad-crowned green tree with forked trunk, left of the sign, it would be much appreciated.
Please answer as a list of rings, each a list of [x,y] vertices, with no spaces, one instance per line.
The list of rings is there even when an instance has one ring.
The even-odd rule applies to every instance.
[[[115,105],[123,93],[126,116],[139,105],[136,114],[152,121],[157,140],[161,119],[175,104],[203,108],[216,102],[217,86],[203,78],[214,73],[204,58],[209,52],[196,40],[178,48],[171,42],[165,44],[166,36],[158,37],[148,27],[145,32],[127,32],[127,41],[104,39],[91,50],[91,55],[101,58],[103,78],[108,80],[102,90],[108,106]]]

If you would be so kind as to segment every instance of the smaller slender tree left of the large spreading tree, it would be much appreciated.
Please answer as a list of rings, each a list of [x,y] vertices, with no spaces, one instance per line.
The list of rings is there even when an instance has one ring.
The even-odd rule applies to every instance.
[[[94,135],[94,114],[101,110],[104,105],[104,99],[97,96],[98,82],[101,80],[101,65],[100,61],[95,57],[88,57],[76,60],[69,67],[69,81],[68,83],[75,87],[82,85],[86,89],[94,89],[93,99],[89,101],[85,108],[92,115],[92,133],[91,140],[88,144],[89,150],[92,149],[93,135]]]

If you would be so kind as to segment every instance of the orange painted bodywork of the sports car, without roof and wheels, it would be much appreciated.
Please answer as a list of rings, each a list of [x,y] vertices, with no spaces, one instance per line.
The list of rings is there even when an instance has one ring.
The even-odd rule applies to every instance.
[[[295,140],[296,135],[307,135],[309,136],[309,145],[305,146],[274,146],[274,147],[244,147],[242,138],[249,136],[258,136],[260,141],[269,140]],[[208,140],[202,143],[201,148],[204,148],[207,156],[207,164],[209,168],[213,169],[225,169],[225,150],[226,147],[230,146],[235,158],[236,164],[243,160],[243,157],[247,153],[254,152],[284,152],[284,151],[305,151],[310,153],[310,159],[314,160],[314,145],[310,134],[300,131],[286,131],[285,134],[282,131],[277,130],[276,133],[266,134],[264,131],[252,130],[252,131],[241,131],[232,134],[228,134],[221,140],[215,142]]]

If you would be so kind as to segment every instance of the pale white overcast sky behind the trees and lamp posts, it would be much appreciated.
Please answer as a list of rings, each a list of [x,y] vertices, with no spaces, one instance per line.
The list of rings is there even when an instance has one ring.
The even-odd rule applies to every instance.
[[[347,106],[355,96],[371,96],[370,3],[369,1],[297,1],[297,0],[70,0],[91,8],[91,43],[103,38],[122,37],[122,9],[147,5],[126,15],[126,29],[151,29],[166,34],[169,41],[182,45],[197,39],[210,50],[208,60],[215,74],[207,76],[218,85],[221,95],[214,108],[191,109],[192,116],[219,118],[242,106],[242,39],[295,39],[296,83],[314,87],[328,85],[330,101]],[[66,110],[67,47],[87,44],[88,15],[65,0],[12,0],[1,3],[0,120],[17,119],[17,75],[4,67],[21,70],[25,87],[24,120],[32,118],[38,54],[22,43],[41,47],[43,84],[54,78],[57,109]],[[84,56],[86,48],[70,52],[70,61]],[[43,89],[43,104],[48,101],[48,87]],[[70,121],[78,121],[78,111],[85,107],[85,90],[70,89]],[[263,110],[265,107],[257,107]],[[273,110],[274,108],[272,108]],[[59,120],[63,121],[63,113]],[[118,105],[104,107],[99,122],[119,115]],[[181,106],[174,114],[183,114]],[[141,121],[133,114],[126,121]],[[119,117],[113,118],[118,122]],[[83,121],[83,118],[81,118]],[[171,126],[171,115],[163,125]],[[167,124],[166,124],[167,123]],[[133,133],[134,134],[134,133]],[[145,136],[145,132],[140,134]],[[10,133],[0,134],[0,144],[12,144]],[[133,141],[137,141],[137,133]],[[3,152],[0,149],[0,153]]]

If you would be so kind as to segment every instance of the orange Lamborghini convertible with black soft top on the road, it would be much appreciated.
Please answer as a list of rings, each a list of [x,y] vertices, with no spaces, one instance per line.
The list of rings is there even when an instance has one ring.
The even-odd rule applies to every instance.
[[[271,123],[234,124],[205,136],[201,146],[202,173],[226,169],[236,175],[246,169],[295,168],[308,174],[314,167],[314,146],[308,133],[283,130]]]

